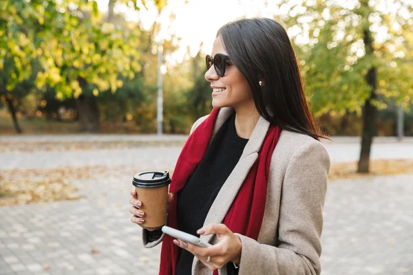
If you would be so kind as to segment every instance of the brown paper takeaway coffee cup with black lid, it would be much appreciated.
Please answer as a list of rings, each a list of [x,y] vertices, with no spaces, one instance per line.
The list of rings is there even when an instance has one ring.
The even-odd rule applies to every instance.
[[[143,226],[160,227],[167,224],[168,186],[171,183],[168,171],[147,171],[134,175],[140,210],[145,212]]]

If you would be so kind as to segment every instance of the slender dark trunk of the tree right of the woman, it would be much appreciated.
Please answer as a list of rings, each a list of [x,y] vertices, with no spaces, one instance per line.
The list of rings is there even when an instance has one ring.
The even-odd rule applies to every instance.
[[[364,30],[364,45],[366,56],[373,55],[373,41],[370,30]],[[370,149],[372,146],[373,135],[376,129],[377,109],[372,101],[377,98],[377,68],[372,66],[366,74],[366,82],[370,86],[370,96],[366,100],[363,109],[363,133],[361,135],[361,151],[357,173],[369,173],[370,168]]]

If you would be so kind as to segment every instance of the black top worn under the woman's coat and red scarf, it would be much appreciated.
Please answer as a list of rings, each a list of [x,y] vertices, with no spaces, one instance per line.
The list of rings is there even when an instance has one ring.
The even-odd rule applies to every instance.
[[[215,197],[244,151],[248,140],[235,131],[235,113],[218,130],[200,164],[187,184],[178,192],[178,229],[195,236],[202,228]],[[193,254],[180,250],[177,275],[191,275]],[[233,264],[227,265],[229,274],[237,274]],[[236,273],[235,273],[236,271]]]

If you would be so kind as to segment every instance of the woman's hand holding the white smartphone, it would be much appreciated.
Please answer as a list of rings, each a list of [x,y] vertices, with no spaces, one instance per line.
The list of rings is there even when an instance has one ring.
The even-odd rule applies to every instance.
[[[173,243],[180,246],[184,250],[188,250],[197,257],[210,270],[216,270],[229,262],[234,262],[237,265],[241,260],[242,243],[240,238],[235,236],[226,225],[222,223],[212,223],[197,231],[201,235],[217,234],[218,243],[209,248],[201,248],[198,245],[193,245],[181,240],[173,240]]]

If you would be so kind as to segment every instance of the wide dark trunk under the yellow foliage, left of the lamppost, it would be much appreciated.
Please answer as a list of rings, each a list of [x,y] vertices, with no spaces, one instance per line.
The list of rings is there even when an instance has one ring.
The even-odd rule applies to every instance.
[[[81,95],[76,99],[78,111],[79,131],[99,132],[100,114],[98,102],[94,96]]]

